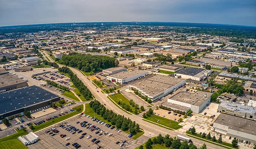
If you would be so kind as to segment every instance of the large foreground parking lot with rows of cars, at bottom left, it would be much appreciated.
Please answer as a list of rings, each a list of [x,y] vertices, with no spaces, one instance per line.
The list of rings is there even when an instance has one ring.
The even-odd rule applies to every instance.
[[[108,131],[108,134],[112,133],[113,135],[108,136],[108,134],[104,135],[102,134],[99,136],[99,134],[95,134],[97,130],[90,131],[87,129],[87,127],[81,127],[80,123],[76,123],[77,121],[82,122],[82,121],[87,121],[88,123],[91,123],[95,126],[98,126],[101,128],[101,130],[105,130],[104,132]],[[87,123],[87,124],[88,124]],[[51,148],[51,149],[58,149],[58,148],[75,148],[72,146],[74,142],[77,142],[78,144],[81,145],[81,149],[83,148],[97,148],[98,146],[101,146],[104,149],[115,149],[115,148],[135,148],[138,146],[139,142],[138,141],[133,141],[131,138],[128,138],[127,133],[121,131],[117,132],[115,129],[110,129],[104,126],[104,124],[99,124],[96,121],[92,121],[91,117],[87,118],[82,115],[79,115],[76,118],[70,119],[68,121],[65,121],[62,123],[63,125],[70,124],[70,126],[74,126],[75,128],[78,128],[79,130],[82,130],[81,133],[78,133],[78,131],[75,134],[72,134],[72,132],[68,132],[65,130],[66,128],[61,128],[59,125],[55,125],[52,128],[58,129],[58,132],[56,135],[51,136],[49,133],[46,133],[46,131],[50,131],[50,128],[44,131],[40,131],[36,133],[40,140],[32,145],[29,145],[29,149],[38,149],[38,148]],[[70,127],[69,126],[69,127]],[[100,130],[100,131],[101,131]],[[73,131],[74,132],[74,131]],[[104,133],[103,132],[103,133]],[[79,139],[78,137],[81,136],[81,134],[87,133],[84,138]],[[60,137],[60,134],[66,134],[64,138]],[[87,138],[88,135],[91,135],[91,138]],[[66,140],[66,138],[70,138],[69,140]],[[92,142],[91,140],[93,138],[96,138],[100,142],[98,144],[95,144],[95,142]],[[121,142],[126,140],[124,143],[124,146],[120,146]],[[119,144],[116,144],[116,142],[119,141]],[[66,143],[70,143],[70,145],[65,146]]]

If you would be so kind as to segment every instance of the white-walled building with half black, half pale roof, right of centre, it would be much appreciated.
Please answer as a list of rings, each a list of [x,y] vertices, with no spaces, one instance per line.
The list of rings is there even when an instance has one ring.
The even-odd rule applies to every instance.
[[[190,67],[175,73],[175,78],[186,78],[201,81],[202,79],[206,79],[207,76],[210,76],[211,73],[211,70]]]

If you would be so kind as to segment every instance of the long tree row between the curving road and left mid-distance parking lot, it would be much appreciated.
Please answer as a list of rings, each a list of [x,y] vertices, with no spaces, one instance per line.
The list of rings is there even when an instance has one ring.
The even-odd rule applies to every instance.
[[[61,67],[58,70],[62,73],[68,73],[72,83],[79,90],[79,92],[85,97],[86,100],[90,100],[92,96],[91,91],[76,75],[74,75],[74,73],[68,67]]]

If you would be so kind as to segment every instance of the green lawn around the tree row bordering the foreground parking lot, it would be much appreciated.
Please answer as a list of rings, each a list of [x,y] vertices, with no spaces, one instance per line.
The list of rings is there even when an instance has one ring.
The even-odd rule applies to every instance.
[[[87,114],[87,115],[90,115],[91,117],[104,120],[105,123],[111,124],[111,122],[109,122],[108,120],[105,120],[101,115],[98,115],[97,113],[95,113],[95,112],[93,111],[93,109],[91,109],[91,107],[90,107],[89,104],[85,104],[85,112],[84,112],[84,113]],[[95,114],[95,116],[94,116],[94,114]],[[128,130],[125,131],[125,132],[128,133],[128,134],[130,134],[130,133],[128,132]],[[132,138],[133,140],[135,140],[135,139],[139,138],[142,134],[144,134],[144,131],[139,131],[138,133],[135,132],[135,133],[133,133],[134,136],[131,137],[131,138]]]

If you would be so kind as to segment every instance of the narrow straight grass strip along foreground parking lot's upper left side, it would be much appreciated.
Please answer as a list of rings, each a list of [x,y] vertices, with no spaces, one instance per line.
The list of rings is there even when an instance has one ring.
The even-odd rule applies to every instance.
[[[50,120],[50,121],[46,121],[45,123],[42,123],[42,124],[40,124],[40,125],[35,125],[35,126],[34,126],[35,129],[33,130],[33,132],[38,131],[38,130],[40,130],[40,129],[43,129],[43,128],[45,128],[45,127],[48,127],[48,126],[50,126],[50,125],[53,125],[53,124],[55,124],[55,123],[58,123],[58,122],[60,122],[60,121],[63,121],[63,120],[65,120],[65,119],[67,119],[67,118],[70,118],[70,117],[76,115],[76,114],[79,114],[80,112],[83,111],[84,106],[83,106],[83,105],[78,105],[78,106],[76,106],[76,107],[73,108],[73,109],[75,110],[74,112],[71,112],[71,113],[62,115],[62,116],[60,116],[60,117],[58,117],[58,118],[55,118],[55,119],[53,119],[53,120]]]

